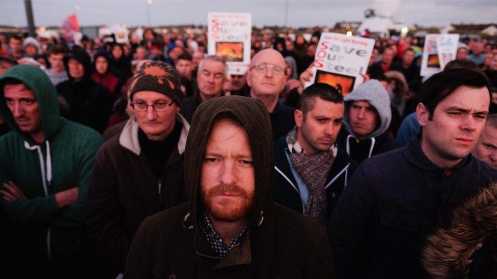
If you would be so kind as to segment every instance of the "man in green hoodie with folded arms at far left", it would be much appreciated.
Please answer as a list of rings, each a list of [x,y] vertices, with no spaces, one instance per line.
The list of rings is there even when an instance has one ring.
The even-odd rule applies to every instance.
[[[2,249],[12,273],[0,277],[94,277],[83,219],[102,137],[60,117],[55,87],[34,66],[0,77],[0,113],[13,130],[0,137],[0,205],[8,216],[0,231],[12,234],[3,243],[12,250]]]

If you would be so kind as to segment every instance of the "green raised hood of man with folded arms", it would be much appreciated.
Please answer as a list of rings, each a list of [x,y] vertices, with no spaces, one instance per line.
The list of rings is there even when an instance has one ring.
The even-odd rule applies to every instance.
[[[17,65],[0,77],[0,114],[2,114],[9,127],[30,144],[35,143],[29,135],[21,132],[5,103],[3,83],[8,78],[20,80],[33,90],[39,104],[41,129],[45,139],[50,140],[61,125],[55,86],[43,70],[31,65]]]

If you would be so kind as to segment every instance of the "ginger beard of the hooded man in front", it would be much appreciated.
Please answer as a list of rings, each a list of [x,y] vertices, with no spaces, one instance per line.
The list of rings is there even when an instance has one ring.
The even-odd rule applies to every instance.
[[[254,204],[254,193],[247,193],[236,185],[220,184],[207,193],[203,190],[202,202],[204,209],[214,220],[234,223],[246,217]],[[236,198],[218,197],[220,194],[237,195]]]

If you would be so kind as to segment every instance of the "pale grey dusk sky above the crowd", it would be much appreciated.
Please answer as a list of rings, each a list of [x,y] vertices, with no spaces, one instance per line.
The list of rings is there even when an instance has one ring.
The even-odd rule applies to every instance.
[[[61,25],[77,11],[79,24],[147,26],[146,0],[140,1],[32,1],[37,26]],[[253,25],[283,25],[285,8],[290,27],[362,21],[364,11],[404,20],[406,25],[446,26],[450,23],[497,22],[497,1],[158,1],[150,4],[151,25],[203,24],[208,12],[252,13]],[[0,1],[0,25],[26,26],[23,1]]]

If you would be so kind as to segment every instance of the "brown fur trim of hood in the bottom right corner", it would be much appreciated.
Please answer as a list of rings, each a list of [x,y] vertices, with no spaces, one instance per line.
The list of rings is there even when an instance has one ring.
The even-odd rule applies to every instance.
[[[455,209],[451,228],[438,229],[426,239],[422,264],[429,278],[465,278],[472,255],[495,237],[497,227],[497,183],[491,183]],[[478,277],[497,278],[495,243],[481,262]],[[491,257],[492,259],[488,259]]]

